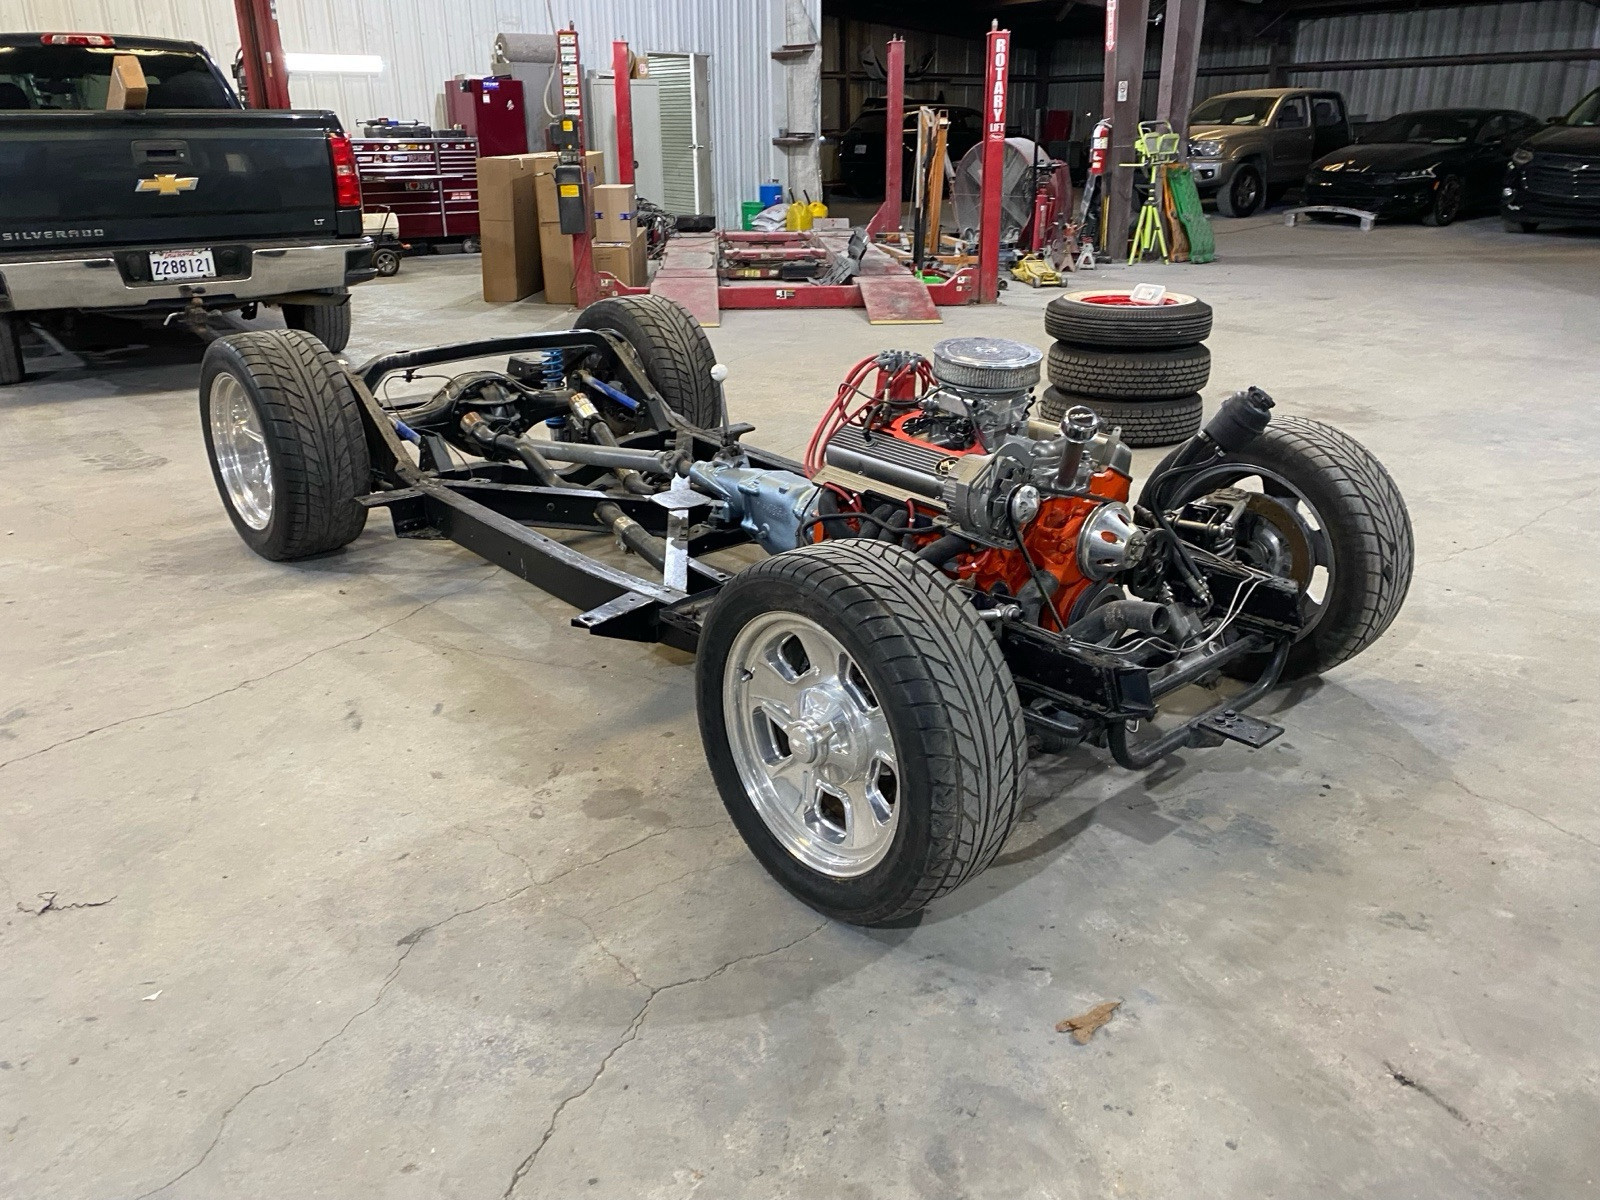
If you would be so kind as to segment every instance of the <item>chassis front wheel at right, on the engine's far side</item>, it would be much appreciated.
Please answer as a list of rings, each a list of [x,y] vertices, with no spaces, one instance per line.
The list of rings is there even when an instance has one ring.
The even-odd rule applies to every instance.
[[[1405,499],[1366,446],[1322,421],[1274,418],[1242,451],[1163,488],[1162,504],[1179,509],[1230,486],[1262,493],[1240,522],[1240,558],[1304,589],[1306,627],[1290,651],[1286,680],[1320,675],[1389,629],[1411,586],[1416,550]],[[1152,502],[1149,494],[1139,499]],[[1264,664],[1266,656],[1245,659],[1237,674],[1248,678]]]

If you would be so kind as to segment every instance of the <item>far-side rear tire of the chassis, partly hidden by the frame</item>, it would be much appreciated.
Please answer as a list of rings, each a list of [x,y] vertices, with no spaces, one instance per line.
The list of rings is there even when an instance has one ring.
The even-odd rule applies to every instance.
[[[578,314],[579,330],[619,333],[638,352],[645,374],[667,408],[699,429],[725,424],[722,395],[710,378],[717,365],[706,330],[666,296],[616,296]]]

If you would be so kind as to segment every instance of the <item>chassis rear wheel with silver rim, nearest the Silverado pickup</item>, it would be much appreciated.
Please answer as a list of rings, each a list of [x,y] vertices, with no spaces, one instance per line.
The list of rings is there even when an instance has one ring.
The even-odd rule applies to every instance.
[[[234,528],[285,562],[355,541],[371,483],[360,400],[333,354],[302,330],[235,333],[200,363],[200,426]]]

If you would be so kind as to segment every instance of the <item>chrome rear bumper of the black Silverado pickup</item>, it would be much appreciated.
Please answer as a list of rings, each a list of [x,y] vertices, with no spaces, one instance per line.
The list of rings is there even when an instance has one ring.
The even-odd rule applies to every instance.
[[[342,242],[246,242],[227,246],[237,258],[219,261],[219,278],[147,283],[130,278],[147,250],[69,250],[27,258],[0,256],[0,310],[173,309],[198,301],[208,309],[306,293],[341,294],[373,277],[371,238]],[[219,253],[219,259],[221,259]],[[147,261],[147,258],[146,258]],[[227,272],[224,262],[237,264]],[[226,275],[232,277],[226,277]]]

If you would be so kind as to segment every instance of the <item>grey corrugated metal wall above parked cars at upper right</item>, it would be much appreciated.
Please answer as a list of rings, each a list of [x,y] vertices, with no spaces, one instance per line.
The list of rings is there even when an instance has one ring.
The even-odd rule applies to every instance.
[[[1539,0],[1304,21],[1293,61],[1579,48],[1600,48],[1600,8],[1587,0]],[[1338,88],[1350,114],[1368,118],[1459,104],[1504,104],[1547,117],[1600,86],[1600,62],[1294,72],[1290,82]]]

